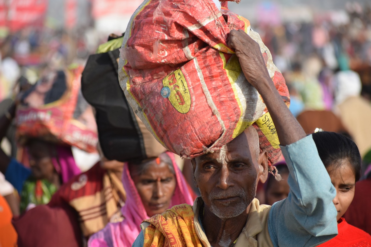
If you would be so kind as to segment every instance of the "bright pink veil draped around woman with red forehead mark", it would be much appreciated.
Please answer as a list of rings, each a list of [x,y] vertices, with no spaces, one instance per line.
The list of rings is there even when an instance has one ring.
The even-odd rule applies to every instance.
[[[192,193],[189,190],[183,174],[180,172],[175,163],[174,154],[172,152],[165,153],[173,162],[175,177],[177,180],[174,195],[170,203],[170,208],[174,205],[184,203],[193,205],[194,200],[192,198]],[[164,155],[164,153],[161,155]],[[122,215],[125,217],[124,221],[119,223],[108,223],[103,230],[93,234],[88,241],[89,247],[130,247],[141,231],[139,225],[143,220],[149,218],[144,209],[135,184],[131,179],[127,163],[124,165],[122,182],[127,193],[126,203],[124,207],[121,208]]]

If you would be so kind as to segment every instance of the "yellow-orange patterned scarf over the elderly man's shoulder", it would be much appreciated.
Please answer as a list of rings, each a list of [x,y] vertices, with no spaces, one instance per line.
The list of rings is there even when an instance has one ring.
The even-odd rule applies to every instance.
[[[144,247],[202,247],[193,224],[192,206],[181,204],[163,214],[155,215],[144,222],[149,225],[144,230]]]

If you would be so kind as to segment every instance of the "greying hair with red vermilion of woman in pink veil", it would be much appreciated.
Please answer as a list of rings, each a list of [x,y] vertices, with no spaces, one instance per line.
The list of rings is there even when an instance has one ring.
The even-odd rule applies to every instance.
[[[170,172],[172,174],[175,174],[171,158],[166,153],[162,153],[158,156],[158,158],[149,158],[145,160],[128,162],[131,177],[144,174],[150,167],[150,165],[153,164],[153,161],[155,161],[156,159],[159,159],[159,162],[164,162],[165,164],[167,164],[170,169]]]

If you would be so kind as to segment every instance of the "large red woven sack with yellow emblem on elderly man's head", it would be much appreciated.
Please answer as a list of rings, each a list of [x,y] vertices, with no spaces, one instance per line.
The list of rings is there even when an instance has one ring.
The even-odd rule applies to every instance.
[[[119,61],[128,102],[170,151],[194,158],[220,149],[256,123],[261,147],[274,164],[278,137],[266,106],[247,82],[234,51],[232,29],[259,43],[273,82],[289,93],[272,56],[248,20],[211,0],[145,0],[131,17]]]

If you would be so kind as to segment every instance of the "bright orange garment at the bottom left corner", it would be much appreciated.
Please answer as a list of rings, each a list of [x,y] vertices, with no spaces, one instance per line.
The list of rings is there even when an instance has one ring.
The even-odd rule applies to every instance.
[[[17,246],[17,233],[12,225],[12,218],[7,201],[0,195],[0,247]]]

